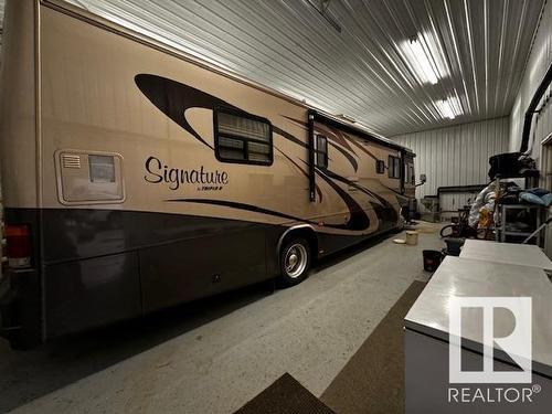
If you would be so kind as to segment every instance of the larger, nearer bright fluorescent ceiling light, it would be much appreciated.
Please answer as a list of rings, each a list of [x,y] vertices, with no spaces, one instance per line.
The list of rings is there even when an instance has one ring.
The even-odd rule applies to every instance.
[[[421,84],[437,84],[439,79],[438,71],[434,66],[432,53],[424,34],[420,33],[416,38],[402,43],[401,49],[406,57],[408,66]]]

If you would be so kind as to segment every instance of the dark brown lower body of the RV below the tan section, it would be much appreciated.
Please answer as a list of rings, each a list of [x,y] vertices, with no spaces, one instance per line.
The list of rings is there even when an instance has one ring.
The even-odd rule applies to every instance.
[[[7,209],[6,221],[33,237],[32,268],[0,291],[0,333],[23,348],[272,278],[287,230],[93,209]],[[318,238],[331,253],[367,236]]]

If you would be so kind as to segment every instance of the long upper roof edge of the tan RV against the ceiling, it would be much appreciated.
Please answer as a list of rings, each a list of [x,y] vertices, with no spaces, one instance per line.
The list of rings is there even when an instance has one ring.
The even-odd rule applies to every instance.
[[[307,108],[307,109],[311,109],[312,112],[315,112],[317,114],[318,117],[322,116],[327,120],[330,120],[331,123],[335,123],[336,125],[339,125],[340,127],[344,127],[344,128],[351,129],[354,132],[359,132],[361,135],[369,136],[373,140],[383,142],[385,145],[392,146],[392,147],[397,148],[400,150],[404,150],[408,153],[414,153],[410,148],[404,147],[397,142],[394,142],[393,140],[385,138],[385,137],[381,136],[380,134],[376,134],[368,128],[359,127],[359,126],[353,125],[352,123],[350,123],[348,120],[338,119],[336,116],[333,116],[332,114],[330,114],[321,108],[318,108],[314,105],[307,105],[304,102],[296,99],[289,95],[283,94],[279,91],[264,86],[255,81],[248,79],[248,78],[246,78],[246,77],[244,77],[235,72],[229,71],[224,67],[213,65],[212,63],[209,63],[199,56],[194,56],[194,55],[189,54],[187,52],[183,52],[177,47],[173,47],[173,46],[170,46],[166,43],[159,42],[159,41],[146,35],[144,33],[139,33],[135,30],[131,30],[129,28],[125,28],[120,24],[112,22],[112,21],[109,21],[105,18],[102,18],[97,14],[94,14],[87,10],[84,10],[82,8],[74,6],[74,4],[67,3],[64,0],[40,0],[40,2],[43,6],[50,7],[54,10],[57,10],[57,11],[63,12],[65,14],[70,14],[74,18],[84,20],[84,21],[86,21],[91,24],[95,24],[97,26],[102,26],[102,28],[104,28],[113,33],[120,34],[120,35],[126,36],[128,39],[138,41],[147,46],[157,49],[157,50],[164,52],[164,53],[169,53],[178,59],[194,63],[194,64],[200,65],[209,71],[212,71],[212,72],[217,73],[220,75],[226,76],[231,79],[241,82],[245,85],[252,86],[256,89],[263,91],[263,92],[270,94],[273,96],[286,99],[287,102],[293,103],[295,105],[301,106],[301,107]]]

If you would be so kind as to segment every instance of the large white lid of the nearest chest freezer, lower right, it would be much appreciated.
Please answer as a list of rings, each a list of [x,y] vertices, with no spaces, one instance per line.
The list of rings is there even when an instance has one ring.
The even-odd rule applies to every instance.
[[[404,319],[407,329],[448,342],[449,300],[458,296],[527,296],[532,298],[533,371],[552,376],[552,283],[537,267],[447,256]],[[495,314],[495,331],[511,331],[511,315]],[[480,351],[481,326],[463,325],[463,344]],[[495,358],[508,362],[495,347]]]

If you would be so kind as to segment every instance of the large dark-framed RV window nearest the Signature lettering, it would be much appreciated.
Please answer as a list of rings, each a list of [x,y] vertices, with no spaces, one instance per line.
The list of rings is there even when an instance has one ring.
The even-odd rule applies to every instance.
[[[215,155],[220,161],[273,163],[270,123],[240,113],[215,112]]]

